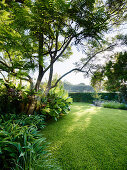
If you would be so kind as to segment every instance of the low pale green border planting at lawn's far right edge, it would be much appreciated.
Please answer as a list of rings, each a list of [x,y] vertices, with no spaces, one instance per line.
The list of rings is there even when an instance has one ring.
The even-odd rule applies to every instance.
[[[113,109],[122,109],[127,110],[127,105],[124,103],[118,103],[118,102],[105,102],[102,104],[105,108],[113,108]]]

